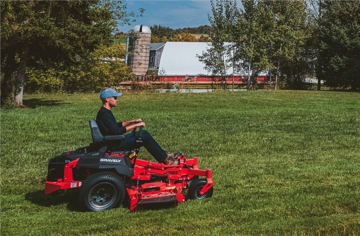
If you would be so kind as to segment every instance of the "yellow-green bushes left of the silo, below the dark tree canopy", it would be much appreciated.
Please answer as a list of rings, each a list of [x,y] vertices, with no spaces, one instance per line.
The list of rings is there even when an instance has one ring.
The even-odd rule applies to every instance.
[[[81,59],[79,66],[49,67],[45,71],[45,67],[30,67],[25,91],[74,93],[118,87],[121,81],[131,77],[130,68],[123,60],[125,53],[123,45],[118,43],[99,47]]]

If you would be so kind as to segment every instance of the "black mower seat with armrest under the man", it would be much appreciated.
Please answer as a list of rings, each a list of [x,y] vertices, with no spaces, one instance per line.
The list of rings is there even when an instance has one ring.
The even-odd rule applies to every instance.
[[[105,135],[100,132],[99,126],[95,120],[89,120],[91,136],[93,138],[93,145],[98,148],[98,152],[106,152],[107,146],[116,140],[124,139],[124,135]]]

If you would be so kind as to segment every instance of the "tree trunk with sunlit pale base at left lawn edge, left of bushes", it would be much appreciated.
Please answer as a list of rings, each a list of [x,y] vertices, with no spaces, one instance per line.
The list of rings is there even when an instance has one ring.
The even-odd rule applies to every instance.
[[[24,107],[23,105],[24,80],[25,80],[26,64],[29,59],[28,55],[29,55],[29,48],[24,48],[20,58],[19,71],[17,71],[14,106],[19,108]]]

